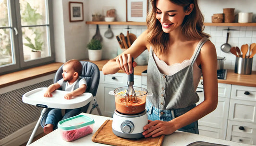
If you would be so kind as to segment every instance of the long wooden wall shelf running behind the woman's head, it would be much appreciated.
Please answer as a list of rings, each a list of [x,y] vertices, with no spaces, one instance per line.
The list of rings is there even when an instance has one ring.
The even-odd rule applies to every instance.
[[[86,24],[100,25],[146,25],[146,22],[104,22],[104,21],[86,21]],[[204,23],[205,26],[256,26],[256,23]]]

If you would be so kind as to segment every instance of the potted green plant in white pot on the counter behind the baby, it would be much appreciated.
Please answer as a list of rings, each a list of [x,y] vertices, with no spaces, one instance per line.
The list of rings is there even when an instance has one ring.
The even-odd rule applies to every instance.
[[[87,44],[89,60],[98,61],[102,57],[102,44],[99,40],[91,39]]]

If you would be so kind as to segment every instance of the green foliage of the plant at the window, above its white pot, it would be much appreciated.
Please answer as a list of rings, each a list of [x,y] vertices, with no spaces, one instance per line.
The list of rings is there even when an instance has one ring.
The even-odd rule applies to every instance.
[[[37,21],[41,20],[42,15],[36,12],[37,9],[33,9],[29,3],[26,3],[24,12],[22,13],[22,20],[28,25],[37,24]],[[24,34],[24,38],[28,43],[24,43],[25,46],[28,46],[32,49],[33,52],[41,51],[44,42],[42,41],[43,31],[38,27],[28,27],[33,34],[27,36]],[[32,38],[31,36],[34,36]]]

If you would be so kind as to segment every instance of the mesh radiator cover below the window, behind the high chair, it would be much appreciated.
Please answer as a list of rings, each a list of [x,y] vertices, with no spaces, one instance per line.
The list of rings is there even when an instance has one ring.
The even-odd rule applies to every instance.
[[[53,79],[49,79],[0,94],[0,141],[38,120],[42,108],[24,103],[22,96],[30,90],[48,87],[52,83]]]

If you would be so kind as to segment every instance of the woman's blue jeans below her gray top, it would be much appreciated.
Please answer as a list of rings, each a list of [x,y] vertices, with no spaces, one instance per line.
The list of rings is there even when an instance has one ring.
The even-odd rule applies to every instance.
[[[176,109],[176,110],[160,110],[156,107],[154,107],[149,101],[146,101],[146,113],[148,120],[160,120],[160,121],[171,121],[172,119],[183,115],[184,113],[188,112],[189,110],[193,109],[195,107],[195,104],[188,106],[186,108],[182,109]],[[179,131],[189,132],[193,134],[199,134],[198,131],[198,124],[197,121],[186,125],[180,129]]]

